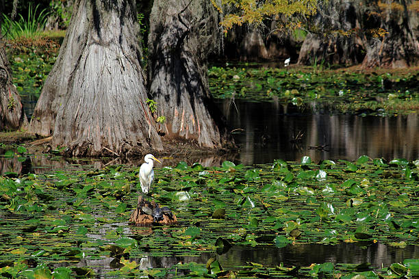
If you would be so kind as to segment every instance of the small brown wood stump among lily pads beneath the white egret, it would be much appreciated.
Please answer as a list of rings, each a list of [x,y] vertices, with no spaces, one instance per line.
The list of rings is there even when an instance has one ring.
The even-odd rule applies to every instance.
[[[144,199],[143,196],[138,197],[137,208],[132,211],[129,217],[129,223],[135,223],[137,226],[153,226],[153,225],[173,225],[177,223],[177,218],[173,213],[165,211],[160,218],[157,217],[156,211],[161,211],[159,204]],[[146,213],[149,210],[153,214]],[[146,212],[144,212],[146,211]]]

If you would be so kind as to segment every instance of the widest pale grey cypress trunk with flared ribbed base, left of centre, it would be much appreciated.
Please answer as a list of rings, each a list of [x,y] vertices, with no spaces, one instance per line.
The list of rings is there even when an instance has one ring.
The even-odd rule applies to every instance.
[[[162,149],[145,103],[134,0],[76,0],[31,131],[75,156]]]

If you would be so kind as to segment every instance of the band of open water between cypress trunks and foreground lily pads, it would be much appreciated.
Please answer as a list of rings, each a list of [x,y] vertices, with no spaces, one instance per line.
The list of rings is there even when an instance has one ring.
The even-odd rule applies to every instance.
[[[295,106],[282,105],[278,101],[220,102],[240,152],[195,156],[179,153],[173,157],[160,157],[162,165],[157,168],[175,166],[179,161],[186,161],[188,165],[197,162],[205,167],[219,166],[225,160],[244,165],[272,163],[275,159],[300,161],[306,155],[316,163],[320,159],[355,161],[361,155],[387,160],[419,159],[418,114],[391,118],[329,115],[316,113],[316,104],[312,104],[309,114],[304,114]],[[0,155],[4,152],[0,148]],[[142,158],[86,160],[35,155],[26,159],[0,158],[0,174],[38,174],[71,165],[90,165],[96,169],[120,163],[139,166],[142,162]]]

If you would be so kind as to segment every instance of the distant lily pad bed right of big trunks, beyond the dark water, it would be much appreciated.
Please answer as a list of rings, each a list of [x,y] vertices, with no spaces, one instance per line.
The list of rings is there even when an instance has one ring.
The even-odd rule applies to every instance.
[[[305,68],[212,67],[210,90],[216,98],[280,101],[312,106],[325,113],[380,116],[416,113],[419,109],[419,70],[361,72]]]

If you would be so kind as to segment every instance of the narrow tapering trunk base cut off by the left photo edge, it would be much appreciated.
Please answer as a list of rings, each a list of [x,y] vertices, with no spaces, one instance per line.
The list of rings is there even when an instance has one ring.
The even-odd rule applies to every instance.
[[[10,73],[5,45],[0,41],[0,130],[27,127],[27,118]]]

